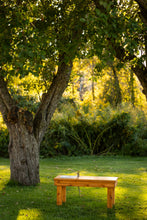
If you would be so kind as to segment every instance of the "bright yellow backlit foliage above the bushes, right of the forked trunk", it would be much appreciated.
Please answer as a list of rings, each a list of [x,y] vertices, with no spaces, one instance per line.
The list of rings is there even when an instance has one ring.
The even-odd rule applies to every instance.
[[[114,75],[111,67],[106,67],[97,72],[95,66],[99,63],[97,57],[93,59],[76,59],[73,65],[71,81],[68,88],[64,92],[64,97],[69,97],[76,100],[80,105],[85,102],[89,105],[94,104],[99,107],[110,104],[110,96],[113,98],[113,80]],[[114,63],[116,65],[117,63]],[[116,67],[115,67],[116,68]],[[116,74],[119,80],[119,85],[122,95],[122,103],[131,103],[131,70],[129,66],[124,66],[121,69],[116,68]],[[82,81],[82,85],[81,85]],[[92,91],[92,84],[94,91]],[[81,89],[81,92],[80,92]],[[147,102],[145,95],[142,93],[142,87],[137,77],[133,75],[133,90],[134,90],[134,105],[140,109],[147,111]],[[83,100],[80,100],[80,93]]]

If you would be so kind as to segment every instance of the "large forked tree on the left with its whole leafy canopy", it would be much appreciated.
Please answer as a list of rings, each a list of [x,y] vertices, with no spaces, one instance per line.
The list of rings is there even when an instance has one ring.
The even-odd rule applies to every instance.
[[[113,56],[121,60],[126,57],[131,60],[134,56],[130,52],[128,55],[132,48],[130,43],[127,51],[124,47],[129,39],[125,33],[129,30],[132,37],[133,31],[118,2],[0,1],[0,111],[9,130],[11,180],[23,185],[39,183],[40,143],[68,85],[74,58],[96,53],[107,59],[111,57],[112,48]],[[137,2],[142,7],[143,1]],[[122,23],[125,24],[123,30],[112,34],[117,33]],[[136,26],[132,30],[137,31]],[[138,33],[142,30],[140,28]],[[119,40],[120,36],[124,36],[123,42]],[[140,44],[142,38],[138,40]],[[134,46],[135,51],[136,48]],[[143,66],[142,70],[142,66],[143,63],[138,78],[146,93],[146,73],[142,73],[146,68]],[[29,72],[40,75],[46,82],[46,91],[35,116],[26,108],[20,108],[9,89],[12,75],[24,77]]]

